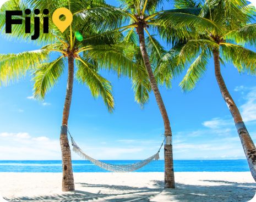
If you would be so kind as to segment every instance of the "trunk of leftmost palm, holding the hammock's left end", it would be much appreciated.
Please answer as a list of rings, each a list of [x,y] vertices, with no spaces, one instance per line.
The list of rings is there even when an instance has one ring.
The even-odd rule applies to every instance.
[[[66,91],[66,99],[64,103],[63,116],[62,116],[62,128],[61,128],[61,151],[62,151],[62,191],[69,192],[75,190],[74,177],[72,171],[71,151],[68,143],[68,117],[72,100],[74,81],[74,58],[73,55],[68,56],[68,84]]]

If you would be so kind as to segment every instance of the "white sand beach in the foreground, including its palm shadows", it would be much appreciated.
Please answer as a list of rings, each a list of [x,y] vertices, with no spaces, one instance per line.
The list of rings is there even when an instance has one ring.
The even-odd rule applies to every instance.
[[[0,194],[8,201],[246,202],[256,190],[249,172],[176,172],[176,189],[163,189],[162,172],[74,173],[74,177],[76,191],[63,193],[61,173],[0,173]]]

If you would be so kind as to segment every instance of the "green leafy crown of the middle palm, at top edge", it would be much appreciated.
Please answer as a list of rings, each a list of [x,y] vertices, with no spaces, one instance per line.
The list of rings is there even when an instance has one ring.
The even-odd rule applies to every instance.
[[[159,10],[163,1],[161,0],[119,0],[121,8],[107,8],[106,14],[112,18],[104,20],[104,27],[108,30],[117,28],[121,32],[126,31],[127,37],[134,38],[134,31],[139,25],[143,25],[148,34],[151,43],[150,31],[159,34],[159,36],[168,43],[175,43],[177,40],[190,38],[190,27],[215,30],[218,26],[213,21],[197,16],[199,8],[178,8],[171,10]],[[121,26],[122,25],[122,26]],[[125,25],[125,26],[123,26]],[[156,51],[157,44],[154,44]],[[160,55],[160,53],[159,53]]]

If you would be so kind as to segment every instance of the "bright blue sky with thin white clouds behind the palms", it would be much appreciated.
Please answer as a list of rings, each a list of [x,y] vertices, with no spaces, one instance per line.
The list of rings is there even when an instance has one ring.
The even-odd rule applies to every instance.
[[[0,35],[0,54],[39,48]],[[239,75],[231,64],[222,65],[221,71],[256,141],[256,78]],[[115,111],[109,114],[101,98],[92,98],[89,89],[75,81],[69,117],[75,141],[86,154],[101,160],[146,159],[155,154],[164,139],[164,126],[154,95],[141,110],[128,78],[102,75],[112,82]],[[182,76],[173,80],[172,89],[160,87],[171,121],[174,159],[245,159],[215,80],[213,60],[192,92],[181,91]],[[32,96],[31,75],[0,87],[0,160],[61,160],[59,133],[66,85],[64,74],[43,102]],[[80,159],[75,153],[72,158]]]

